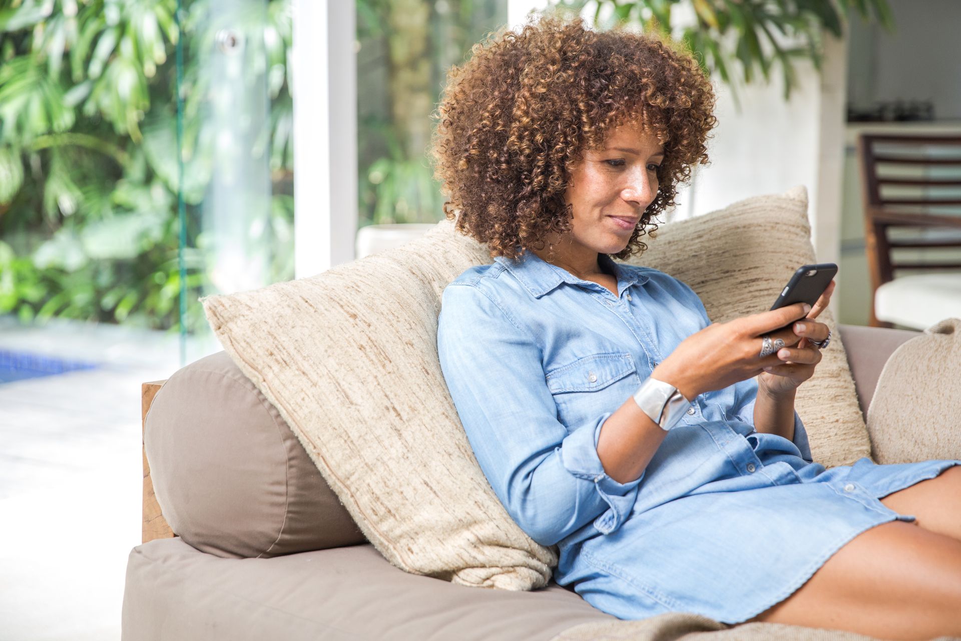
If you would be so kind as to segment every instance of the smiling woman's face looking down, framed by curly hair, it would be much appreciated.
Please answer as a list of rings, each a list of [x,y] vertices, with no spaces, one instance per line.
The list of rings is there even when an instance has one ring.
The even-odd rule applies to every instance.
[[[640,123],[607,136],[602,150],[587,150],[571,172],[564,200],[573,206],[569,251],[617,254],[657,196],[664,147]]]

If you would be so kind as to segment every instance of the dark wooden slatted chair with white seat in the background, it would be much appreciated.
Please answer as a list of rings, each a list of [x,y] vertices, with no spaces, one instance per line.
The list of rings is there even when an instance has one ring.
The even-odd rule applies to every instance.
[[[858,158],[871,325],[961,317],[961,136],[862,134]]]

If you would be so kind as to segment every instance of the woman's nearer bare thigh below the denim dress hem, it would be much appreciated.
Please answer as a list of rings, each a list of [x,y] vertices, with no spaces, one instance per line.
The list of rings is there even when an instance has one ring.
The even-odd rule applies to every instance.
[[[855,536],[791,596],[745,623],[926,640],[961,636],[959,611],[961,541],[892,521]]]

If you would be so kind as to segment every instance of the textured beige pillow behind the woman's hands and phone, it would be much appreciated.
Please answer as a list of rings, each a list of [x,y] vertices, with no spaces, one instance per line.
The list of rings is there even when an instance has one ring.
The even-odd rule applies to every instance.
[[[724,210],[663,225],[648,250],[627,260],[690,285],[712,321],[770,309],[802,264],[815,263],[807,222],[807,190],[755,196]],[[835,328],[830,310],[819,317]],[[871,456],[841,336],[836,329],[814,377],[798,390],[798,415],[814,460],[833,467]]]

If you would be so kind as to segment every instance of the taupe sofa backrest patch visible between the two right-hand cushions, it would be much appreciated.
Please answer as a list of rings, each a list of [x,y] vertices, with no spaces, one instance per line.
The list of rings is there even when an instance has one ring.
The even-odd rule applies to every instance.
[[[867,417],[884,363],[902,343],[921,333],[859,325],[838,325],[837,329],[848,353],[857,402],[861,406],[861,413]]]

